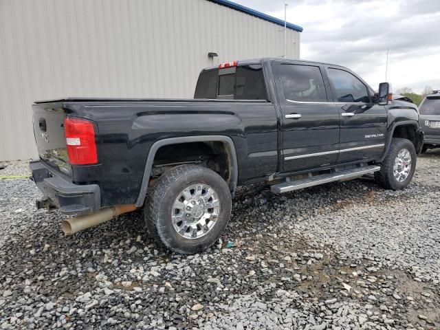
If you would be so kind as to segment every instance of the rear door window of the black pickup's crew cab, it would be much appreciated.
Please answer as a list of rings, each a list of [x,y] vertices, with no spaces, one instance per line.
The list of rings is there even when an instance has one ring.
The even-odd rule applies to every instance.
[[[281,65],[281,83],[286,100],[326,102],[324,80],[319,67],[312,65]]]

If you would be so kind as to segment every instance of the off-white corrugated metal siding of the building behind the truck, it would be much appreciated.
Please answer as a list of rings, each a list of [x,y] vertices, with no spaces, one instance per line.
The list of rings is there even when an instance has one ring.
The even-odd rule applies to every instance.
[[[287,38],[299,58],[300,33]],[[279,25],[206,0],[0,0],[0,161],[36,157],[34,100],[192,98],[203,67],[281,56],[283,40]]]

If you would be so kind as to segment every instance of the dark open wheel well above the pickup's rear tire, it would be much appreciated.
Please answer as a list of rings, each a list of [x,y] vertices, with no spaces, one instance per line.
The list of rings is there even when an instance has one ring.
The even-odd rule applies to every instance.
[[[232,179],[232,157],[228,144],[221,141],[167,144],[155,153],[149,185],[167,170],[183,164],[196,164],[214,170],[226,181]]]

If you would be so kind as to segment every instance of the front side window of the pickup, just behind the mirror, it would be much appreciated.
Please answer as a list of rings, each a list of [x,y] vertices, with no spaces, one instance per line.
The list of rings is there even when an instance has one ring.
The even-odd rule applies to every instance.
[[[329,69],[329,78],[338,102],[370,102],[366,86],[353,74],[340,69]]]

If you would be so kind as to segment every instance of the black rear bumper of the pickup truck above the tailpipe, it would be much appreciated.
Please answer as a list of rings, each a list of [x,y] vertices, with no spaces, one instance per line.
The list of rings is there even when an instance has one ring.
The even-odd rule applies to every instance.
[[[29,164],[36,186],[65,214],[87,214],[100,210],[100,188],[97,184],[72,184],[54,173],[43,162]],[[39,207],[40,203],[37,203]]]

